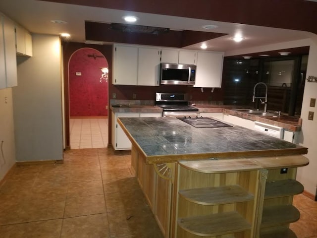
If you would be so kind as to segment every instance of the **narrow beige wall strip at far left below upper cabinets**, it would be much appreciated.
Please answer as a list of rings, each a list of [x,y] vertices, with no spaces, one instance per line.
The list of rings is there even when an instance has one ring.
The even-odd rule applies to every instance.
[[[3,142],[2,142],[3,141]],[[1,142],[2,152],[1,153]],[[0,89],[0,180],[15,164],[12,89]]]

